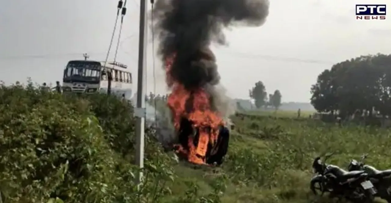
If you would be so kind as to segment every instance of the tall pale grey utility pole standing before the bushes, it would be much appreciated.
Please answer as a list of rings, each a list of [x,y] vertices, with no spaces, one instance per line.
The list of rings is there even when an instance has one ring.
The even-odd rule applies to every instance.
[[[147,2],[140,1],[140,28],[138,43],[138,76],[137,76],[137,103],[136,119],[136,165],[142,169],[144,167],[144,126],[145,126],[145,98],[143,88],[143,70],[146,62],[147,47]],[[142,183],[143,173],[140,170],[136,173],[136,183],[138,188]]]

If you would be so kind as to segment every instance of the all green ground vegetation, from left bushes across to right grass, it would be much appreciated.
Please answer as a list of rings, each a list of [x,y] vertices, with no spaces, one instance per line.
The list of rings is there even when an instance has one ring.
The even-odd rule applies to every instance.
[[[391,168],[387,129],[338,126],[306,118],[232,116],[221,167],[194,168],[164,152],[147,129],[145,179],[137,191],[133,108],[106,95],[47,93],[32,85],[0,88],[0,192],[3,203],[312,203],[313,158],[346,168]],[[283,113],[281,113],[283,114]]]

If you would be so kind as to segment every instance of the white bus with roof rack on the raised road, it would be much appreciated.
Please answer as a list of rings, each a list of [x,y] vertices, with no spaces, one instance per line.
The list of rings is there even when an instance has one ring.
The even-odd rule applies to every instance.
[[[64,69],[63,91],[73,93],[107,93],[108,74],[111,72],[111,93],[132,97],[132,73],[118,62],[69,61]]]

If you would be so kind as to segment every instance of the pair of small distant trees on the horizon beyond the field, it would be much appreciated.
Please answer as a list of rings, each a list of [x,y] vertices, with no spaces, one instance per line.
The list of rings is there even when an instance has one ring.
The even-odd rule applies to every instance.
[[[273,94],[267,94],[266,87],[262,81],[255,83],[253,88],[249,90],[249,96],[254,100],[257,109],[273,107],[275,110],[278,110],[281,106],[282,95],[280,91],[276,89]]]

